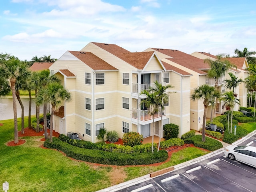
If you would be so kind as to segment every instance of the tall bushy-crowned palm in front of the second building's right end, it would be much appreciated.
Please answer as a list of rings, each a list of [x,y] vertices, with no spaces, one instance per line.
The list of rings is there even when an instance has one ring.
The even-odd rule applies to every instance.
[[[223,55],[219,54],[217,55],[216,60],[212,60],[210,58],[207,58],[204,60],[204,63],[209,64],[209,71],[208,71],[208,77],[213,78],[215,81],[214,87],[216,90],[218,90],[219,86],[219,79],[222,78],[225,73],[231,69],[231,68],[237,68],[236,65],[232,64],[230,61],[223,59]],[[217,104],[217,100],[216,100]],[[214,112],[215,107],[211,110],[211,122],[212,122],[212,113]]]

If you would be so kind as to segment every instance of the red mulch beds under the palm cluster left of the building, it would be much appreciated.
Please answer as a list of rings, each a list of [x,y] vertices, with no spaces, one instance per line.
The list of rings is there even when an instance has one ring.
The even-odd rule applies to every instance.
[[[48,135],[50,135],[50,129],[47,129],[47,132],[48,132]],[[24,134],[21,134],[21,131],[18,132],[19,137],[42,136],[43,138],[41,139],[41,141],[45,141],[43,134],[44,134],[44,130],[37,133],[35,130],[28,128],[28,127],[24,129]],[[59,135],[60,134],[55,132],[54,130],[52,131],[52,136],[59,137]],[[19,142],[17,144],[14,144],[14,141],[10,141],[10,142],[6,143],[6,145],[7,146],[19,146],[19,145],[24,144],[25,142],[26,142],[26,140],[19,139]]]

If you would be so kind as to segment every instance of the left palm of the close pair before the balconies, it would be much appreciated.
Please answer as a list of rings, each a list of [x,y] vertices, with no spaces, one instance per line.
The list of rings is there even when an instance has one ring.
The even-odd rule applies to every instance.
[[[154,154],[154,114],[157,111],[157,106],[161,102],[161,98],[156,92],[149,93],[147,90],[143,90],[140,94],[146,95],[146,98],[141,100],[140,106],[146,106],[149,108],[149,115],[153,118],[153,133],[152,133],[152,154]]]

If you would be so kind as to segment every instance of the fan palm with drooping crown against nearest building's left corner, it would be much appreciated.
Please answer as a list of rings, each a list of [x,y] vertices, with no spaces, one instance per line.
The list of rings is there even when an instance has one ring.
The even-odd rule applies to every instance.
[[[49,102],[52,105],[51,118],[50,118],[50,142],[52,142],[52,122],[55,111],[58,111],[62,106],[62,101],[71,102],[71,93],[64,89],[62,84],[58,82],[50,82],[47,86],[40,88],[36,104],[40,102]]]

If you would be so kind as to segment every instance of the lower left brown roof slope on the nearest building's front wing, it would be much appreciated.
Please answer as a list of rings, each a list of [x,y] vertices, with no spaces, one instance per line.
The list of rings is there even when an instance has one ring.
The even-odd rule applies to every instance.
[[[80,51],[68,51],[74,56],[76,56],[79,60],[84,62],[93,70],[117,70],[117,68],[108,64],[106,61],[98,58],[96,55],[91,52],[80,52]]]

